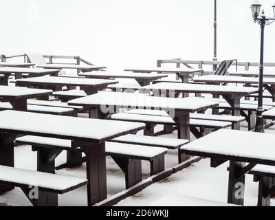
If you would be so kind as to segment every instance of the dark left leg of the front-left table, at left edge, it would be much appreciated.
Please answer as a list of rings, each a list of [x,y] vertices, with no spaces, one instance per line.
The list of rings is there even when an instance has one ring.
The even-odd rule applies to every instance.
[[[0,165],[14,166],[14,138],[15,135],[0,133]],[[13,186],[0,184],[0,193],[12,190]]]

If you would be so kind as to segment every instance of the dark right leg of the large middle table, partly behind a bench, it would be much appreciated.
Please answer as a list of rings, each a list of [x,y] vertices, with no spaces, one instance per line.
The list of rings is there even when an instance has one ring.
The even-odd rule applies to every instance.
[[[190,140],[189,113],[177,116],[175,121],[177,123],[177,138]],[[189,158],[190,155],[186,155],[186,153],[181,153],[181,151],[179,150],[179,164]]]

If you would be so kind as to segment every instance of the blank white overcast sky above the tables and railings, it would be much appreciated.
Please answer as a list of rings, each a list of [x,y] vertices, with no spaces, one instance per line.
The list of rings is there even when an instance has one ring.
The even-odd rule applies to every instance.
[[[1,54],[80,55],[110,69],[157,58],[211,60],[213,0],[2,0]],[[218,58],[259,61],[252,0],[217,0]],[[262,0],[273,16],[270,0]],[[265,30],[274,61],[275,23]]]

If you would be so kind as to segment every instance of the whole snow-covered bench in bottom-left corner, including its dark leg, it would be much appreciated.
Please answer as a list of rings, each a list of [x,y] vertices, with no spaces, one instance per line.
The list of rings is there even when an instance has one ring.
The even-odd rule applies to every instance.
[[[85,186],[87,179],[0,166],[0,183],[20,187],[33,206],[58,206],[58,194]]]

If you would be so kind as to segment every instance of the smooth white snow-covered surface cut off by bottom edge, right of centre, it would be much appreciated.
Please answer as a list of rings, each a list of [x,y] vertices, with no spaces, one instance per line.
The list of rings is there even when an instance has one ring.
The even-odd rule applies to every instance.
[[[206,199],[199,199],[181,195],[179,193],[170,194],[158,199],[150,204],[150,206],[236,206],[231,203],[221,203]]]

